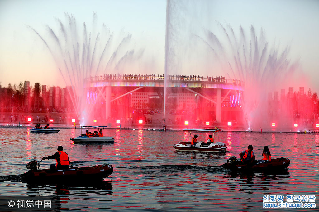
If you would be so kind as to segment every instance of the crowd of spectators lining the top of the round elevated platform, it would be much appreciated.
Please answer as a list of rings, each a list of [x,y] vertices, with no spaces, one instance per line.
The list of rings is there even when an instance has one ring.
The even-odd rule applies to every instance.
[[[164,80],[163,75],[155,75],[155,74],[104,74],[103,76],[94,76],[90,77],[90,81],[101,81],[101,80]],[[203,77],[196,75],[168,75],[169,80],[178,80],[178,81],[206,81],[206,82],[221,82],[221,83],[234,83],[240,84],[240,80],[237,79],[226,79],[225,77]]]

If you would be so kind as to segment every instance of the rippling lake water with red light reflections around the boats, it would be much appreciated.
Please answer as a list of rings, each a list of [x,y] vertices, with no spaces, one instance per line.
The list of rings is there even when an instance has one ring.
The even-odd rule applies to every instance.
[[[60,133],[29,133],[27,128],[0,128],[0,192],[8,196],[50,195],[60,200],[61,211],[276,211],[263,208],[263,195],[316,195],[318,210],[319,134],[221,132],[226,153],[175,151],[183,131],[105,129],[113,144],[74,144],[69,139],[80,129]],[[209,133],[197,133],[206,141]],[[205,138],[205,139],[204,139]],[[261,159],[264,145],[271,157],[287,157],[288,169],[279,173],[232,173],[214,167],[254,146]],[[73,164],[108,163],[111,176],[101,182],[77,185],[29,185],[19,174],[26,163],[52,155],[58,145]],[[41,168],[55,160],[41,162]]]

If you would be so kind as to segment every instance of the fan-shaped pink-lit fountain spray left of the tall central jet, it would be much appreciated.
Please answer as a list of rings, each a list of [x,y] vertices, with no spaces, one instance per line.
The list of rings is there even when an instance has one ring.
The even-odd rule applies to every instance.
[[[131,34],[121,32],[117,35],[105,24],[97,30],[95,13],[91,31],[85,23],[79,27],[73,15],[65,13],[65,19],[65,23],[56,19],[57,30],[46,26],[48,38],[29,27],[41,38],[53,56],[67,85],[78,120],[81,125],[85,125],[91,122],[88,120],[93,120],[94,110],[101,110],[97,100],[105,99],[101,89],[97,89],[94,98],[91,98],[92,94],[88,91],[88,87],[92,85],[91,79],[104,74],[123,73],[129,65],[132,69],[133,61],[142,56],[143,50],[136,52],[132,48]]]

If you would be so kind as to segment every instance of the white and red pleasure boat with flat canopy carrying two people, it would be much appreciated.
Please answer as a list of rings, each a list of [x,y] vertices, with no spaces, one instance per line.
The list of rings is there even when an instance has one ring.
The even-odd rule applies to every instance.
[[[219,135],[218,132],[221,132],[221,129],[185,129],[185,141],[180,142],[178,144],[174,145],[174,148],[176,150],[180,151],[192,151],[192,152],[225,152],[226,151],[226,145],[225,143],[219,142]],[[191,139],[191,134],[193,131],[195,132],[211,132],[212,139],[214,140],[214,133],[217,133],[217,142],[211,143],[209,146],[204,145],[204,142],[197,142],[196,144],[191,145],[190,141],[186,141],[186,132],[189,132],[189,140]]]

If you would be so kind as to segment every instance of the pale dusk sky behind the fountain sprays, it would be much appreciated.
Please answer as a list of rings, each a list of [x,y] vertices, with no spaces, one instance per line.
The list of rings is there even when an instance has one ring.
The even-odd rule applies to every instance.
[[[220,31],[218,23],[230,25],[235,32],[240,25],[248,32],[250,25],[254,26],[256,32],[262,28],[270,43],[280,44],[283,48],[290,47],[287,59],[292,62],[299,61],[298,71],[306,80],[300,84],[296,83],[296,86],[304,86],[305,91],[311,88],[312,91],[319,92],[319,1],[185,0],[180,2],[182,2],[181,10],[184,10],[183,4],[186,8],[189,5],[200,5],[198,10],[183,14],[183,18],[188,19],[185,23],[192,23],[195,17],[196,21],[203,22],[199,24],[201,27],[193,29],[192,33],[195,34],[204,26],[223,40],[222,34],[218,32]],[[95,13],[97,23],[93,29],[99,29],[105,24],[119,37],[123,34],[132,35],[129,48],[143,49],[143,58],[132,65],[132,68],[130,65],[126,66],[122,73],[163,74],[166,4],[165,0],[2,0],[0,1],[0,83],[2,86],[7,86],[9,83],[18,84],[20,81],[30,81],[30,85],[37,82],[49,86],[65,85],[48,48],[30,28],[32,27],[49,42],[47,26],[58,29],[56,20],[60,19],[65,23],[65,13],[73,15],[79,25],[85,22],[87,28],[91,27]],[[180,10],[175,8],[171,12],[178,13]],[[184,27],[176,26],[181,30]],[[184,37],[181,37],[179,42],[188,42],[183,39]],[[218,70],[214,70],[211,75],[215,76],[218,73]]]

